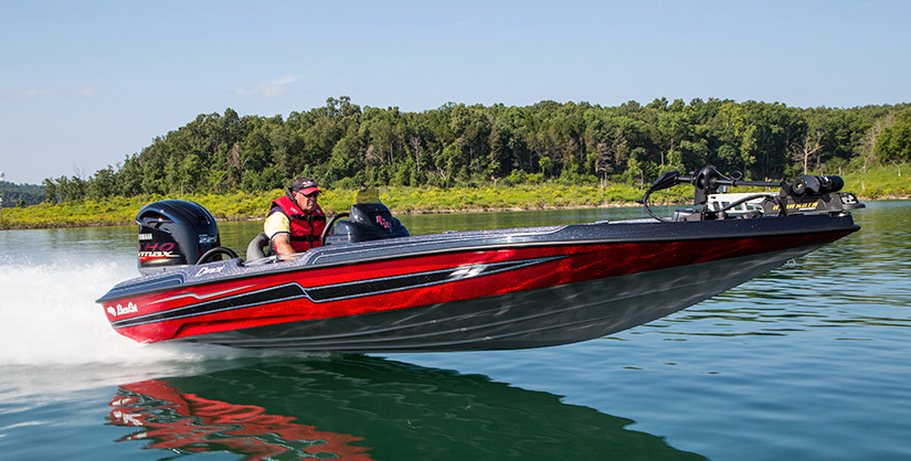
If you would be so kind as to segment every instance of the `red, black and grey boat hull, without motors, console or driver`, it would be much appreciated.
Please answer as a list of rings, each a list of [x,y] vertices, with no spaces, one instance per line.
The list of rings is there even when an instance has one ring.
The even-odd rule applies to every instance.
[[[358,353],[542,347],[665,317],[858,228],[850,216],[735,221],[319,248],[271,267],[233,260],[125,282],[99,302],[115,330],[146,343]]]

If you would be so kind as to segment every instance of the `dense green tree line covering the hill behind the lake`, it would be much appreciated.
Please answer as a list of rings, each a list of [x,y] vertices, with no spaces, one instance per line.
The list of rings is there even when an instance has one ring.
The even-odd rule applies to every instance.
[[[911,160],[911,104],[795,108],[655,99],[618,107],[446,104],[405,112],[348,97],[282,116],[200,115],[89,178],[43,181],[46,201],[329,187],[623,182],[706,164],[746,179],[859,171]]]

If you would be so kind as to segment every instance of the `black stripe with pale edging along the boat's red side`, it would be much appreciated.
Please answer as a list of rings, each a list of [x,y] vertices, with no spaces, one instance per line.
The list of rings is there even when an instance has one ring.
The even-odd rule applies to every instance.
[[[283,283],[247,293],[227,296],[214,300],[198,302],[194,304],[167,310],[163,312],[137,315],[129,319],[114,321],[110,324],[115,329],[123,329],[147,323],[184,319],[188,317],[205,315],[234,309],[251,308],[255,305],[268,304],[274,302],[290,301],[294,299],[301,298],[308,299],[311,302],[316,303],[339,301],[350,298],[383,294],[394,291],[409,290],[413,288],[423,288],[434,285],[447,283],[452,281],[466,280],[475,277],[520,269],[528,266],[549,262],[562,258],[563,256],[554,256],[525,259],[519,261],[477,264],[469,266],[459,266],[455,268],[431,270],[420,274],[410,274],[404,276],[382,277],[369,280],[358,280],[352,282],[327,285],[322,287],[307,288],[300,286],[300,283],[298,282]],[[227,291],[234,290],[226,290],[225,292]],[[214,294],[221,293],[222,292]],[[198,296],[195,293],[184,293],[181,296],[168,298],[167,300],[173,300],[184,297],[205,299],[211,298],[211,294]],[[166,300],[156,301],[153,303],[163,301]]]

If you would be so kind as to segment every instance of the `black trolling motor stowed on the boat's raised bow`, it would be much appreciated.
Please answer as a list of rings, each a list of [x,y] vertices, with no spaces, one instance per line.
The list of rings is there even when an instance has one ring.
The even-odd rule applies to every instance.
[[[681,175],[677,171],[668,171],[648,187],[640,203],[646,212],[658,221],[668,221],[655,215],[648,207],[648,196],[656,191],[670,189],[677,184],[692,184],[693,205],[701,205],[701,210],[684,210],[675,213],[672,221],[711,221],[728,218],[727,212],[743,203],[755,203],[762,210],[761,215],[786,216],[808,213],[839,214],[845,210],[862,208],[865,205],[857,196],[849,192],[839,192],[845,186],[840,176],[815,176],[805,174],[792,182],[781,181],[745,181],[721,174],[714,167],[706,167],[698,173]],[[709,199],[718,194],[720,187],[780,187],[777,194],[758,193],[737,199],[719,210],[712,210]],[[753,217],[750,215],[748,217]]]

